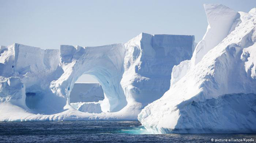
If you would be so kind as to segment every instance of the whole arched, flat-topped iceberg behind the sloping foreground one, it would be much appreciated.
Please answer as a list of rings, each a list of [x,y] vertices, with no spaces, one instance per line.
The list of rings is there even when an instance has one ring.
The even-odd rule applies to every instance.
[[[0,121],[137,120],[144,106],[169,89],[173,66],[189,60],[193,49],[194,36],[145,33],[99,47],[1,46]],[[99,81],[103,112],[89,113],[100,112],[98,103],[71,106],[82,74]]]

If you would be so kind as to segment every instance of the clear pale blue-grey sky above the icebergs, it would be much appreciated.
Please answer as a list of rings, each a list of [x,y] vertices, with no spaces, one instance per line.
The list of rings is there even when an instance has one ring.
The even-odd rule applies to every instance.
[[[195,35],[198,42],[207,28],[205,3],[244,12],[256,7],[256,0],[0,0],[0,45],[100,46],[126,42],[142,32]]]

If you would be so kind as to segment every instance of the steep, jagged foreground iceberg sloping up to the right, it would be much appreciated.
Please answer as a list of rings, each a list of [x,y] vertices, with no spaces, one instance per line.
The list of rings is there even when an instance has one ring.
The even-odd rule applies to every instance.
[[[256,13],[204,5],[208,28],[170,89],[138,115],[153,133],[256,132]]]

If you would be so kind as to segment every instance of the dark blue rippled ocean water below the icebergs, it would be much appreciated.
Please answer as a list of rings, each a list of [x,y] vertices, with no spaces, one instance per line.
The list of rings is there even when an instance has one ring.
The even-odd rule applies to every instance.
[[[212,142],[256,134],[148,134],[137,121],[0,122],[0,142]]]

